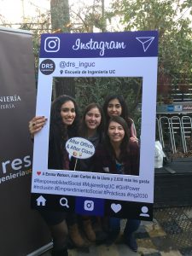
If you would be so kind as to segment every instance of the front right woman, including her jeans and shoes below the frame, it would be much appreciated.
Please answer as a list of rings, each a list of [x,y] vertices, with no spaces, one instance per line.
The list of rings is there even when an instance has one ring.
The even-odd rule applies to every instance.
[[[94,158],[95,172],[139,175],[139,147],[130,140],[130,131],[125,119],[113,116],[108,120],[104,142],[97,147]],[[125,243],[137,252],[137,241],[133,232],[140,220],[128,219],[125,225]],[[119,236],[120,218],[109,218],[108,245]]]

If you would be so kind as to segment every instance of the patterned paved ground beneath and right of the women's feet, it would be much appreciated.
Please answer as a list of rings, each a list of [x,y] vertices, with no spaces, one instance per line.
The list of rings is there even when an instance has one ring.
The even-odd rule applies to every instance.
[[[124,221],[122,222],[122,227]],[[192,207],[154,210],[153,222],[142,222],[136,233],[138,253],[125,246],[121,237],[110,247],[90,246],[89,253],[69,250],[70,256],[192,256]],[[50,256],[44,253],[43,256]]]

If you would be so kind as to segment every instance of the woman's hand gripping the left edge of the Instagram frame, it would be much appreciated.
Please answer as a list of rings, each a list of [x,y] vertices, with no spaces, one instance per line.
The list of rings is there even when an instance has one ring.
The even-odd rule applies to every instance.
[[[35,116],[33,119],[29,121],[29,132],[32,138],[34,138],[34,135],[38,131],[41,131],[46,121],[47,119],[45,119],[44,116]]]

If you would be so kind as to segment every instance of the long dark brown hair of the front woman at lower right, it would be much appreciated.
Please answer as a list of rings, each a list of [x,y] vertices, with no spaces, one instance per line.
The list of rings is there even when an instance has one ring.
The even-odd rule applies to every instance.
[[[120,154],[119,154],[119,161],[123,161],[125,160],[125,158],[127,157],[127,154],[129,154],[130,149],[129,149],[129,140],[130,140],[130,131],[128,128],[128,125],[125,121],[125,119],[123,119],[120,116],[113,116],[108,120],[108,125],[106,127],[105,130],[105,136],[104,136],[104,143],[105,143],[105,147],[108,150],[108,153],[111,155],[112,158],[116,158],[112,143],[110,141],[110,138],[108,136],[108,127],[111,124],[111,122],[116,122],[119,125],[121,125],[125,131],[125,136],[122,140],[122,143],[120,143]]]

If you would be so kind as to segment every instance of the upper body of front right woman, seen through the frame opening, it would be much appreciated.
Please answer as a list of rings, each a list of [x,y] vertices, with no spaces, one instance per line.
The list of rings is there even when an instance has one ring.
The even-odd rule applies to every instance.
[[[96,149],[95,169],[114,174],[139,175],[139,147],[130,141],[129,128],[125,119],[113,116],[108,121],[104,141]],[[101,165],[108,167],[102,168]],[[117,165],[121,164],[121,171]],[[95,170],[96,171],[96,170]]]

